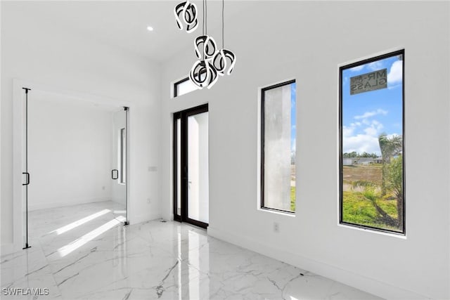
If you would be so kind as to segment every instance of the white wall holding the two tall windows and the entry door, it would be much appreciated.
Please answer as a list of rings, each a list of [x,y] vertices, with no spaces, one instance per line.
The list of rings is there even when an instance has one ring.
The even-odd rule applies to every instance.
[[[380,296],[450,298],[449,5],[260,1],[226,23],[237,63],[211,90],[170,98],[170,83],[195,61],[191,45],[165,63],[162,164],[171,164],[172,112],[210,103],[208,233]],[[407,235],[399,237],[338,224],[338,70],[403,47]],[[293,78],[297,213],[288,217],[257,210],[257,110],[259,88]],[[161,174],[166,218],[171,170]]]

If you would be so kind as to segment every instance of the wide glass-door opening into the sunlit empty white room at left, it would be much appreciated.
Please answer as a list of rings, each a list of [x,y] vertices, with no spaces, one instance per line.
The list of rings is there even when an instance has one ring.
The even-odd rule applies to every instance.
[[[127,225],[129,108],[36,88],[21,107],[23,248],[65,256]]]

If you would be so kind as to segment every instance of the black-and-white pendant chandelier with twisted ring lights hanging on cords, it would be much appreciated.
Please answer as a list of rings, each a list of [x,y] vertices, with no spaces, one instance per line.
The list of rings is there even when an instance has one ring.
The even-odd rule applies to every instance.
[[[198,27],[198,11],[195,4],[184,1],[175,6],[174,14],[179,30],[193,32]],[[194,50],[197,61],[193,64],[189,79],[198,87],[211,89],[219,76],[231,74],[236,63],[236,56],[224,48],[224,0],[222,0],[222,48],[217,48],[216,41],[207,35],[207,2],[203,0],[202,35],[194,40]]]

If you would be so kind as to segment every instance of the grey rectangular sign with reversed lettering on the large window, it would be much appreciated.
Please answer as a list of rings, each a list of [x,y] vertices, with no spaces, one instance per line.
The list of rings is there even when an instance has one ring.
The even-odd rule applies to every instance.
[[[387,69],[350,77],[350,95],[387,88]]]

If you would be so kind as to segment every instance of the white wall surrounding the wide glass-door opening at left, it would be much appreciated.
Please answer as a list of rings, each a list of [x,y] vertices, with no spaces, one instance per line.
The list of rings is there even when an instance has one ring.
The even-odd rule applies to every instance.
[[[39,2],[1,1],[2,251],[13,242],[13,218],[17,218],[12,180],[13,79],[129,104],[130,222],[160,216],[159,65],[49,23],[34,6]]]

